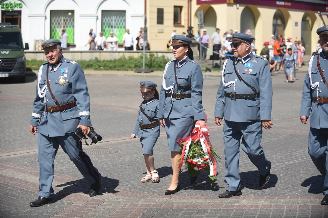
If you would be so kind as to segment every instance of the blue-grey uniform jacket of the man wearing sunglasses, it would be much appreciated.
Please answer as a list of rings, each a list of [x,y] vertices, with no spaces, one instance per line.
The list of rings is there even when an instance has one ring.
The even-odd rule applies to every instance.
[[[272,81],[269,62],[262,57],[253,55],[238,59],[236,69],[239,75],[260,92],[259,98],[232,100],[224,96],[224,92],[255,93],[244,82],[239,81],[233,61],[235,57],[226,59],[222,69],[222,79],[217,91],[214,116],[233,122],[252,122],[271,120]],[[223,84],[230,82],[230,87]]]

